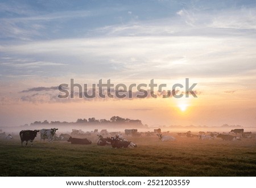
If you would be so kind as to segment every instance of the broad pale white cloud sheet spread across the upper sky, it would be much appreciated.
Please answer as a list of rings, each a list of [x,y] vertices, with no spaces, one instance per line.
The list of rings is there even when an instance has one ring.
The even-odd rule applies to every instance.
[[[123,13],[127,15],[129,11],[137,13],[133,9]],[[72,75],[78,79],[113,78],[122,82],[152,77],[162,80],[193,78],[204,86],[227,84],[238,74],[240,79],[236,84],[252,83],[251,80],[256,79],[255,6],[225,6],[220,11],[215,6],[199,8],[188,3],[172,11],[173,14],[154,19],[100,24],[87,30],[76,28],[86,31],[86,35],[78,33],[62,39],[40,36],[34,41],[1,43],[0,53],[13,59],[0,59],[0,74],[37,75],[38,79]],[[35,32],[40,33],[46,23],[61,19],[64,12],[42,15],[30,12],[29,18],[22,16],[18,21],[38,21]],[[86,16],[75,12],[67,11],[64,20],[76,18],[80,13]],[[88,14],[93,16],[94,12]],[[52,20],[47,21],[48,17]],[[13,18],[4,20],[15,22]],[[16,32],[18,35],[19,31]],[[62,31],[57,33],[62,34]]]

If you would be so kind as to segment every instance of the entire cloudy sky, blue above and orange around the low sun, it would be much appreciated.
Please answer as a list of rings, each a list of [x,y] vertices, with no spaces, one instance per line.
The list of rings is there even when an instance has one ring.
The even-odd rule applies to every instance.
[[[256,126],[255,1],[0,1],[0,25],[0,126],[112,116]],[[185,78],[197,97],[57,98],[71,79],[172,90]]]

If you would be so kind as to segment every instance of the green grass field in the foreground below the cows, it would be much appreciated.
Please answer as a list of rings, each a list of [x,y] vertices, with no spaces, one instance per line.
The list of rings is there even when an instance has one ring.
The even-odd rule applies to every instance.
[[[138,147],[0,140],[0,176],[256,176],[255,139],[128,139]]]

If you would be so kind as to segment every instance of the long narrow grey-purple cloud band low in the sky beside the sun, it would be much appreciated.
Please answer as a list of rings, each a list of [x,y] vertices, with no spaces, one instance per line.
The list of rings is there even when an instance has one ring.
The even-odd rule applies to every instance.
[[[27,90],[24,90],[20,93],[28,93],[28,92],[36,92],[29,95],[23,95],[20,97],[20,101],[26,101],[26,102],[32,102],[32,103],[53,103],[53,102],[61,102],[61,103],[67,103],[67,102],[81,102],[81,101],[121,101],[121,100],[146,100],[146,99],[152,99],[153,94],[156,98],[171,98],[174,96],[174,93],[176,95],[180,95],[181,92],[179,90],[176,91],[154,91],[154,93],[151,94],[150,89],[148,90],[141,90],[141,91],[125,91],[125,90],[115,90],[114,88],[110,89],[109,91],[105,88],[102,88],[102,94],[100,94],[100,91],[98,88],[96,88],[96,91],[92,88],[88,88],[86,90],[86,94],[89,96],[93,96],[92,94],[95,93],[95,97],[89,98],[85,96],[84,91],[78,92],[74,91],[73,93],[70,92],[70,89],[67,89],[69,95],[68,97],[61,99],[58,97],[58,95],[64,95],[63,92],[59,92],[58,87],[35,87],[30,88]],[[200,92],[194,91],[196,95],[200,95]],[[73,94],[73,98],[71,98],[71,95]],[[105,98],[102,98],[101,95],[104,95]],[[110,97],[112,95],[112,97]],[[122,96],[122,97],[119,97]]]

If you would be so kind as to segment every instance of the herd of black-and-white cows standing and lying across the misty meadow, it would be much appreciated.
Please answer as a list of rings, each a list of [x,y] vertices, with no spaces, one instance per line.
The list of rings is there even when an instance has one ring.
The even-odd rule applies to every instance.
[[[56,138],[60,140],[67,140],[67,142],[71,142],[71,144],[92,144],[92,141],[86,138],[72,138],[71,135],[68,134],[61,134],[60,136],[57,136],[56,130],[58,129],[41,129],[41,130],[22,130],[19,133],[20,140],[23,146],[23,142],[26,141],[25,147],[27,146],[28,141],[31,142],[31,146],[33,145],[33,141],[40,131],[40,140],[45,141],[46,139],[48,142],[52,142]],[[94,134],[97,133],[98,130],[94,130]],[[75,135],[81,135],[80,130],[73,130],[73,134]],[[101,131],[102,135],[108,135],[108,132],[106,130]],[[122,134],[114,133],[115,135],[106,137],[102,136],[101,134],[97,134],[98,136],[98,146],[112,146],[113,148],[127,148],[127,147],[137,147],[137,144],[134,144],[133,142],[130,142],[122,137]],[[167,132],[168,134],[168,132]],[[125,135],[131,135],[131,136],[141,136],[141,133],[138,133],[137,129],[126,129]],[[151,135],[151,134],[146,134]],[[168,141],[168,140],[176,140],[171,135],[162,135],[161,129],[155,129],[154,135],[157,135],[160,140]],[[234,129],[231,130],[230,133],[222,133],[219,134],[217,132],[202,132],[200,131],[199,134],[192,134],[191,131],[188,131],[187,133],[177,133],[177,136],[187,136],[189,138],[199,138],[201,140],[209,139],[212,140],[214,138],[221,138],[223,140],[241,140],[241,138],[251,138],[252,133],[251,132],[244,132],[243,129]],[[0,133],[0,138],[2,139],[5,137],[6,140],[13,139],[13,137],[9,134],[6,135],[5,133]]]

